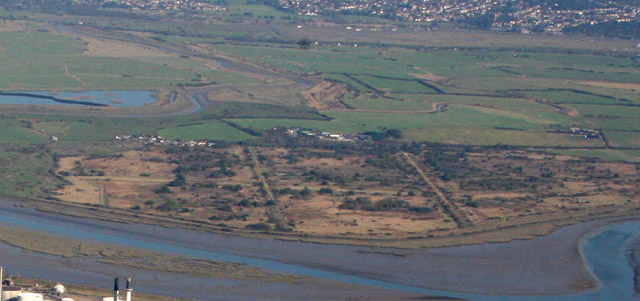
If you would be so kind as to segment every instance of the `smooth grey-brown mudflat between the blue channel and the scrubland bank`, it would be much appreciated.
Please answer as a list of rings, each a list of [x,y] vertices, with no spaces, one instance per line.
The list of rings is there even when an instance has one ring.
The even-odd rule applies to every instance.
[[[584,222],[562,227],[550,235],[509,243],[409,250],[261,240],[73,217],[58,216],[56,219],[48,219],[52,216],[51,214],[35,212],[27,208],[8,206],[3,208],[6,209],[3,210],[5,214],[30,219],[43,220],[44,218],[55,225],[78,227],[83,231],[96,233],[106,231],[118,236],[126,233],[126,237],[150,242],[269,260],[275,266],[278,264],[294,266],[294,274],[297,268],[311,268],[316,271],[329,271],[438,291],[502,296],[564,295],[588,292],[596,286],[597,280],[591,275],[580,256],[580,240],[608,224],[632,220],[618,218]],[[255,281],[248,280],[246,285],[251,285],[253,282]],[[287,291],[293,287],[321,285],[315,280],[310,282],[311,284],[305,281],[294,281],[271,284],[271,286],[282,286],[282,289]],[[325,283],[324,280],[321,282]],[[351,284],[345,285],[351,286]],[[347,289],[347,291],[350,290]],[[349,294],[344,296],[347,295]],[[413,296],[402,293],[395,297],[411,298]]]

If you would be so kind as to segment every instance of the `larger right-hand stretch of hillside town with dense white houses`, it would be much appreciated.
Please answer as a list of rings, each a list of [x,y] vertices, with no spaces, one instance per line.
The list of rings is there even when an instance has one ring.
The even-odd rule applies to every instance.
[[[589,3],[577,5],[575,3]],[[640,20],[637,1],[536,0],[278,0],[277,6],[299,15],[367,15],[414,22],[463,22],[475,27],[520,32],[560,32],[565,27]],[[482,16],[489,16],[486,22]],[[493,21],[493,22],[490,22]],[[475,23],[475,24],[474,24]]]

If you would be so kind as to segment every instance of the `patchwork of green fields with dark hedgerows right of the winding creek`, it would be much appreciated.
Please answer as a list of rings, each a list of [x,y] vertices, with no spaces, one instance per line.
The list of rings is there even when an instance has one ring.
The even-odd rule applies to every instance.
[[[343,82],[356,91],[345,96],[343,102],[352,108],[369,111],[324,112],[335,118],[331,122],[238,120],[243,126],[262,129],[278,125],[300,126],[349,133],[398,128],[408,130],[407,137],[432,142],[445,141],[445,136],[418,133],[423,129],[429,132],[429,129],[457,128],[458,131],[452,133],[461,136],[446,140],[483,145],[524,145],[527,140],[524,137],[530,137],[530,144],[552,146],[557,143],[556,146],[563,147],[600,145],[551,133],[517,135],[500,132],[495,136],[471,130],[562,131],[570,126],[637,129],[636,108],[628,106],[637,103],[640,96],[634,86],[638,83],[640,70],[637,60],[632,57],[536,52],[533,49],[449,47],[416,50],[354,46],[319,43],[304,50],[278,47],[276,44],[210,45],[217,51],[233,53],[276,68],[314,73]],[[420,84],[418,79],[440,91]],[[452,105],[442,115],[394,114],[431,111],[434,103]],[[547,103],[567,104],[575,112],[562,113],[558,107]],[[473,134],[465,134],[469,131]]]

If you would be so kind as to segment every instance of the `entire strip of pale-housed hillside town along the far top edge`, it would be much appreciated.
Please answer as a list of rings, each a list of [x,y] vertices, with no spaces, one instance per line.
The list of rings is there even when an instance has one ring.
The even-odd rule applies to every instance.
[[[637,27],[640,2],[633,0],[259,0],[250,4],[269,5],[301,16],[370,16],[438,26],[454,24],[471,29],[520,33],[570,32],[580,26],[613,24]],[[226,11],[226,0],[71,0],[72,5],[103,9],[163,11]],[[29,6],[16,1],[14,7]],[[610,29],[607,29],[611,31]],[[637,29],[624,29],[637,36]]]

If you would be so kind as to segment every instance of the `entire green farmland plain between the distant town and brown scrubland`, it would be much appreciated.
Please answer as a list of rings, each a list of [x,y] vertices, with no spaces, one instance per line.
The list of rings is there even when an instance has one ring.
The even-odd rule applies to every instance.
[[[207,112],[170,118],[22,116],[33,123],[27,127],[17,120],[5,121],[1,144],[36,145],[50,135],[67,143],[107,142],[124,134],[235,142],[256,139],[248,134],[253,129],[284,126],[336,133],[400,129],[408,141],[602,147],[597,139],[562,134],[578,126],[602,130],[614,147],[640,147],[636,132],[625,131],[640,130],[640,93],[607,86],[609,82],[638,83],[640,68],[632,56],[489,44],[416,46],[404,36],[390,37],[388,44],[376,43],[364,33],[360,38],[343,26],[314,27],[312,17],[292,16],[269,6],[244,0],[227,5],[227,11],[204,13],[205,18],[222,20],[216,26],[170,22],[168,14],[160,11],[146,12],[149,18],[139,19],[66,17],[68,22],[121,30],[120,37],[130,35],[133,42],[139,38],[158,47],[183,49],[197,43],[199,51],[215,50],[293,76],[342,82],[348,90],[340,101],[355,110],[340,105],[339,110],[318,112],[301,105],[306,102],[299,87],[285,83],[284,88],[271,89],[269,79],[259,82],[237,72],[213,70],[187,55],[158,51],[148,56],[89,55],[90,47],[81,38],[30,23],[25,30],[0,32],[0,59],[5,62],[2,90],[171,90],[176,85],[215,82],[246,97],[237,102],[233,97],[221,98],[232,101],[216,103]],[[296,44],[301,37],[318,43],[301,49]],[[213,99],[215,93],[210,94]],[[444,112],[427,113],[435,104],[448,106]]]

